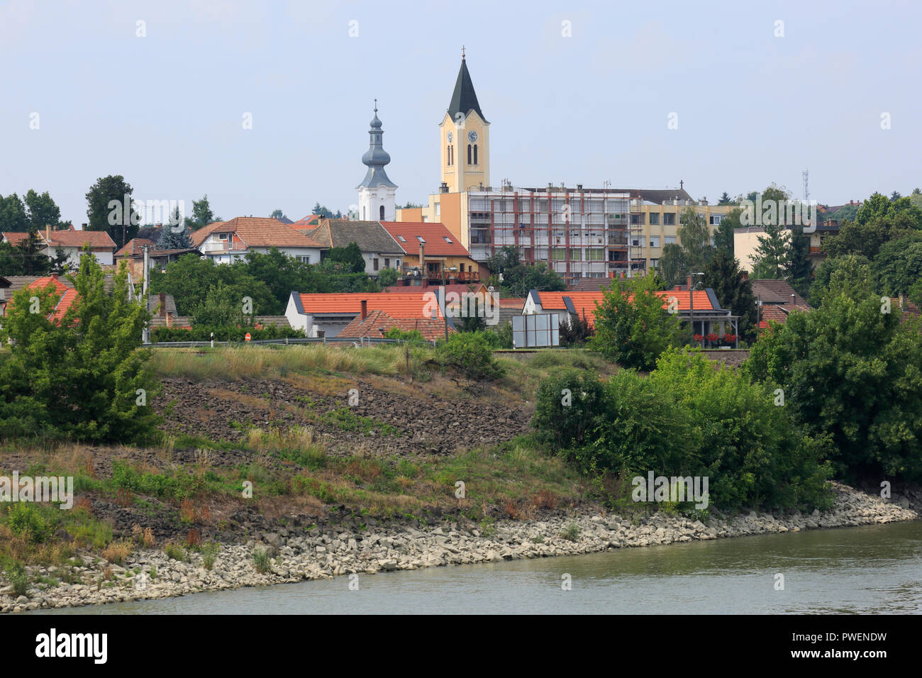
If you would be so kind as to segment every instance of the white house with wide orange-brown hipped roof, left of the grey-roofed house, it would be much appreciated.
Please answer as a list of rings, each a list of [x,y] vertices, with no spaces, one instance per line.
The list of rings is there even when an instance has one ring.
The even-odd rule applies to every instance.
[[[237,217],[216,221],[192,233],[192,242],[203,256],[217,264],[230,264],[249,252],[266,254],[273,247],[305,264],[316,264],[327,245],[275,219]]]

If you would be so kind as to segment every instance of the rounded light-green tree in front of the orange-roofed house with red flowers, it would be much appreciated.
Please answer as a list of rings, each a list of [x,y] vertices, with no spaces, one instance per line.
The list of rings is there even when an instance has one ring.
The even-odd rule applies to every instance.
[[[656,281],[649,276],[615,280],[596,309],[596,336],[590,346],[624,367],[652,370],[685,332],[677,315],[668,314]]]

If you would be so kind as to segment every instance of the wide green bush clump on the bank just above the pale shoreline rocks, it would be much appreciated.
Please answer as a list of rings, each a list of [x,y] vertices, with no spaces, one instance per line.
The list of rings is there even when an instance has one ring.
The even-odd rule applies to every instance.
[[[562,388],[573,393],[569,408]],[[622,370],[604,385],[575,371],[552,375],[537,400],[539,434],[585,473],[619,477],[621,491],[653,471],[707,477],[710,502],[725,510],[831,503],[828,438],[791,422],[770,388],[696,351],[666,351],[651,375]]]

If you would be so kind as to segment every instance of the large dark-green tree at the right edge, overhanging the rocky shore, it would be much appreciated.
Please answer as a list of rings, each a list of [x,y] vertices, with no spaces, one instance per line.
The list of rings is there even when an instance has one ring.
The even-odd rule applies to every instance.
[[[881,313],[867,267],[834,271],[820,307],[774,325],[744,370],[781,387],[810,434],[832,435],[839,477],[922,479],[922,332]]]

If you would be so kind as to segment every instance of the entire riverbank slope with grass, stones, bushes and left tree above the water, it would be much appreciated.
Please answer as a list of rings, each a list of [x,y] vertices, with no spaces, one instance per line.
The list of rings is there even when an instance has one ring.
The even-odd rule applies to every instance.
[[[494,357],[478,333],[151,353],[133,334],[143,310],[107,297],[90,257],[81,276],[90,302],[61,326],[18,295],[0,352],[0,475],[72,476],[77,494],[70,511],[0,508],[6,611],[916,517],[900,483],[917,477],[845,467],[891,480],[899,506],[826,482],[833,442],[774,404],[774,382],[694,351],[649,375],[585,350]],[[648,470],[710,475],[711,507],[630,501]],[[142,572],[149,588],[126,583]]]

